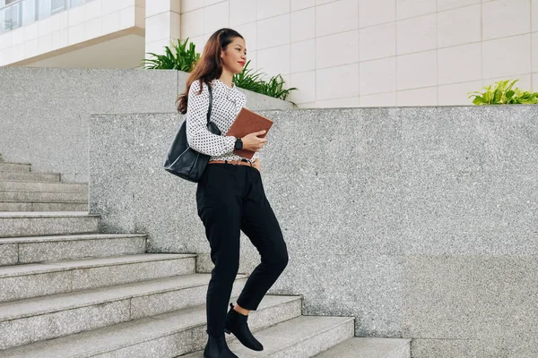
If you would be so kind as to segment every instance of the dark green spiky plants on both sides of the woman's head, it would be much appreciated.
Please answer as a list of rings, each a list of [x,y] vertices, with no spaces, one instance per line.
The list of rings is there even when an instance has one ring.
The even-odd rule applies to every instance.
[[[195,68],[196,61],[200,59],[200,54],[195,51],[195,44],[190,43],[187,49],[188,38],[181,43],[178,40],[178,45],[174,46],[176,50],[176,55],[172,53],[170,48],[165,47],[166,55],[156,55],[153,53],[148,53],[153,55],[155,58],[152,59],[143,59],[142,62],[145,64],[144,69],[146,70],[178,70],[184,72],[191,72]],[[284,80],[280,74],[271,77],[268,81],[264,81],[262,76],[265,73],[252,72],[251,69],[247,68],[250,61],[245,64],[243,71],[237,74],[234,74],[232,81],[236,86],[244,90],[252,90],[253,92],[263,94],[265,96],[271,96],[273,98],[280,98],[285,100],[290,94],[291,90],[297,90],[295,87],[284,90],[283,84]]]

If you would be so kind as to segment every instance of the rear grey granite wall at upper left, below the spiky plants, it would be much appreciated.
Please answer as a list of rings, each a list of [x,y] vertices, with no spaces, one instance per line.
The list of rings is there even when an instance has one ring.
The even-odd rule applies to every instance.
[[[88,182],[91,114],[175,113],[187,72],[0,67],[0,152],[62,181]],[[253,109],[290,102],[243,90]]]

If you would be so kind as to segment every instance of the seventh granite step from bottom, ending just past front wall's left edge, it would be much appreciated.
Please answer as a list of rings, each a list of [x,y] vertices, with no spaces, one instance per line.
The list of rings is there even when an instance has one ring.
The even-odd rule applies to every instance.
[[[87,212],[0,212],[0,237],[91,234],[98,226],[99,216]]]

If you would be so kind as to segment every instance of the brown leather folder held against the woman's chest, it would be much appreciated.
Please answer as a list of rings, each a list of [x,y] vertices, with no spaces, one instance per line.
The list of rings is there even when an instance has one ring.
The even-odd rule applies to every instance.
[[[230,130],[226,135],[231,135],[238,138],[243,138],[247,134],[253,132],[260,132],[265,130],[265,134],[259,135],[259,138],[265,138],[267,132],[273,125],[273,121],[269,118],[265,118],[263,115],[258,115],[255,112],[243,107],[239,111],[239,115],[234,120],[233,124],[230,126]],[[254,151],[252,150],[234,150],[234,153],[240,157],[252,159],[254,157]]]

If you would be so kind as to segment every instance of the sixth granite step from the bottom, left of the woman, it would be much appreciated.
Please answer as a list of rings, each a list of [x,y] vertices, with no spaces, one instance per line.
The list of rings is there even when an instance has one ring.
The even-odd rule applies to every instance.
[[[0,266],[134,255],[145,251],[145,234],[74,234],[0,238]]]

